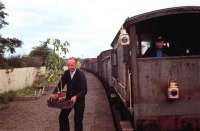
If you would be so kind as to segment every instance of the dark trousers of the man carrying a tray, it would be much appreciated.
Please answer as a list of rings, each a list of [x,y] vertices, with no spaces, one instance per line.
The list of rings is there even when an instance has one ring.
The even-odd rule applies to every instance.
[[[83,131],[83,115],[85,109],[85,99],[78,100],[74,105],[74,130]],[[70,131],[69,113],[72,109],[62,109],[59,115],[60,131]]]

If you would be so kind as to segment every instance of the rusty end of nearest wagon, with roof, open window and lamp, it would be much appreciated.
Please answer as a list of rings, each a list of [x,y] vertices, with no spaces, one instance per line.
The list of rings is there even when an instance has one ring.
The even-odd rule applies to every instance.
[[[199,23],[200,7],[188,6],[145,13],[123,24],[130,44],[117,49],[130,58],[125,62],[136,130],[200,130]],[[147,53],[156,51],[159,36],[165,55]]]

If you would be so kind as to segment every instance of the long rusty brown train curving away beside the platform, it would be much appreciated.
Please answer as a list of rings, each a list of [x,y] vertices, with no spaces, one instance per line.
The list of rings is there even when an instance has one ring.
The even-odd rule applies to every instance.
[[[111,49],[82,61],[128,112],[135,131],[200,130],[200,6],[128,17]],[[145,55],[164,38],[167,56]],[[116,94],[116,95],[113,95]]]

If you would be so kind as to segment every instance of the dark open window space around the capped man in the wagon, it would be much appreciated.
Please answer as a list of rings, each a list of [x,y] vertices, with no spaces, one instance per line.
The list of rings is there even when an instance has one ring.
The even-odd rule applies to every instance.
[[[200,15],[191,13],[154,17],[137,23],[138,57],[155,57],[144,54],[155,45],[154,40],[159,35],[165,39],[165,56],[200,55],[199,23]],[[153,50],[155,52],[155,47]]]

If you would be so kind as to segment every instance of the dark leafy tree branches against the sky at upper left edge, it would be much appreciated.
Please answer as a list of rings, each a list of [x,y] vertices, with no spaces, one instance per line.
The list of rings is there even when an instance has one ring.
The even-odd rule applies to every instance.
[[[5,17],[8,14],[3,11],[4,9],[5,9],[4,4],[2,2],[0,2],[0,29],[4,25],[8,25],[8,23],[5,21]],[[14,53],[15,48],[21,47],[21,45],[22,45],[22,41],[17,38],[3,38],[0,35],[0,59],[3,58],[4,53],[6,51],[9,51],[10,53]]]

